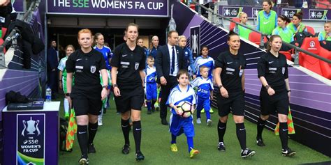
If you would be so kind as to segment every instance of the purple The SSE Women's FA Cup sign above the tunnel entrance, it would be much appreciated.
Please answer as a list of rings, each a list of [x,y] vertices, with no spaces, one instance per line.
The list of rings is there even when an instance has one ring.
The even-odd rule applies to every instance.
[[[168,17],[169,0],[52,0],[47,14]]]

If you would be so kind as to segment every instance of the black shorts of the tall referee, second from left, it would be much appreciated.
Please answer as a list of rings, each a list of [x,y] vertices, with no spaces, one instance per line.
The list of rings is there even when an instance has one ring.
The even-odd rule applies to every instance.
[[[142,86],[133,89],[119,88],[121,96],[115,96],[115,104],[117,111],[126,113],[131,109],[141,111],[142,104],[144,104],[144,89]]]

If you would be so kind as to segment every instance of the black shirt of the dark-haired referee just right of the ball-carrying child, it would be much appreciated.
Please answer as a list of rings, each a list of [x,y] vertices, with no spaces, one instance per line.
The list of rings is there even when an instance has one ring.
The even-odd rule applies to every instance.
[[[222,68],[221,81],[228,93],[242,91],[242,73],[246,68],[246,58],[238,53],[233,55],[230,51],[219,54],[215,61],[215,68]]]

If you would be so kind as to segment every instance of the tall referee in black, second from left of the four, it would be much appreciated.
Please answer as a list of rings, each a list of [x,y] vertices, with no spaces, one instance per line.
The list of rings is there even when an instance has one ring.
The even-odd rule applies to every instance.
[[[136,45],[138,25],[130,23],[126,27],[126,42],[117,46],[110,65],[112,66],[112,86],[114,88],[117,111],[121,113],[121,125],[125,144],[123,154],[128,154],[130,141],[129,118],[133,121],[133,137],[135,139],[135,159],[145,159],[140,151],[141,123],[140,113],[144,103],[145,50]],[[130,114],[131,113],[131,114]]]

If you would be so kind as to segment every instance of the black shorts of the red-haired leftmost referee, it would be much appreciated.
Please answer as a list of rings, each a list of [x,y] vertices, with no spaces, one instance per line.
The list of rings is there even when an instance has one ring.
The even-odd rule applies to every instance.
[[[74,86],[71,93],[71,100],[73,100],[73,108],[76,116],[82,115],[96,115],[101,113],[101,86],[79,87]]]

